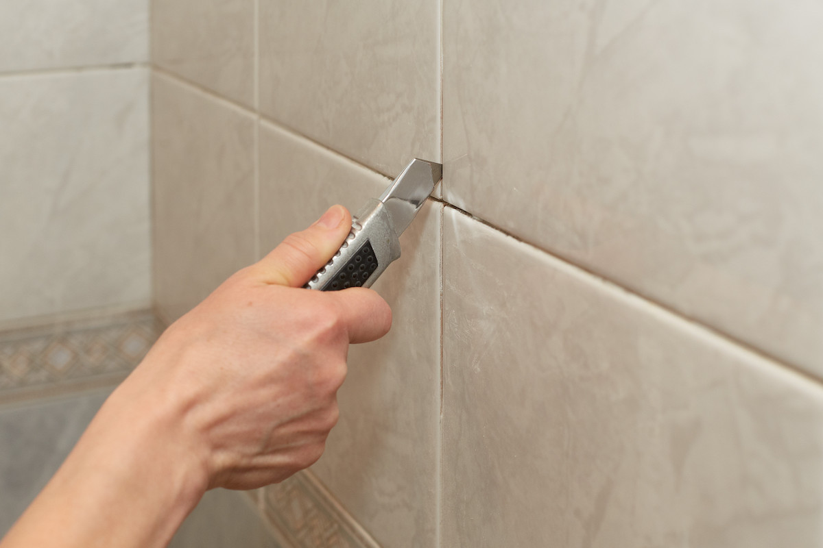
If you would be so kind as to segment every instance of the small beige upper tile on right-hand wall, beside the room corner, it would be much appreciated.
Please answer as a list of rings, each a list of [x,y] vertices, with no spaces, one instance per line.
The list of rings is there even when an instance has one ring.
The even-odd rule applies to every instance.
[[[254,0],[152,0],[151,61],[253,105]]]

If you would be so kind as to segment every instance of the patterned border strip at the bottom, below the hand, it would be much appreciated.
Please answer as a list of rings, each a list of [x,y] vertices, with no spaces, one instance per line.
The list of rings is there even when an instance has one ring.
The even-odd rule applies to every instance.
[[[263,513],[289,548],[379,548],[311,472],[263,489]]]

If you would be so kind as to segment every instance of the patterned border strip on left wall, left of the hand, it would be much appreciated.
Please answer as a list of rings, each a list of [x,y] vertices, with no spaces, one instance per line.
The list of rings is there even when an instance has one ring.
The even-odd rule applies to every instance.
[[[0,401],[115,384],[162,330],[140,311],[0,332]]]

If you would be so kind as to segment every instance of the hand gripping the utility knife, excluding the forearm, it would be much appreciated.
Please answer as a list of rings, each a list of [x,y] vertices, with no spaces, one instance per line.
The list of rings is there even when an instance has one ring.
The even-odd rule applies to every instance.
[[[226,280],[166,330],[112,405],[171,408],[209,488],[252,489],[309,467],[337,422],[349,343],[391,325],[370,289],[301,288],[350,228],[335,206]]]

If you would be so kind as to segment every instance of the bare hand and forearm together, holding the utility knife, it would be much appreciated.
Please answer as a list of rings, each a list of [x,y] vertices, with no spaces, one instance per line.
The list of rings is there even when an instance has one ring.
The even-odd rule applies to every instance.
[[[370,289],[301,288],[350,228],[332,207],[174,322],[0,548],[166,546],[206,490],[266,486],[317,461],[349,344],[391,326]]]

